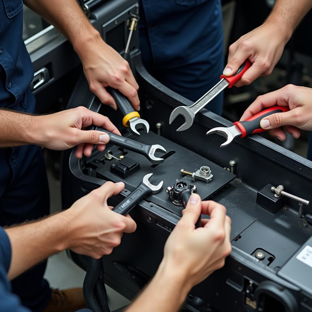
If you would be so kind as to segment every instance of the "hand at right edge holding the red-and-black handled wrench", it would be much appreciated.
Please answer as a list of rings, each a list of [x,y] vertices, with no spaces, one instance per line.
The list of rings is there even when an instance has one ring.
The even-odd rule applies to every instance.
[[[260,126],[269,130],[268,132],[272,136],[284,141],[286,134],[279,128],[283,126],[285,131],[298,139],[300,131],[297,128],[312,130],[311,98],[311,88],[286,85],[279,90],[258,96],[241,116],[241,120],[248,119],[262,109],[274,105],[289,106],[290,111],[288,112],[276,113],[263,118]]]

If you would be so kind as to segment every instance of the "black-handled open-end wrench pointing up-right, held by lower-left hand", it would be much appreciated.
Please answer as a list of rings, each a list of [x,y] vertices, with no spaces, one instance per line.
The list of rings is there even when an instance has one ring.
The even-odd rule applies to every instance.
[[[145,196],[159,193],[161,188],[163,187],[163,181],[161,181],[156,186],[149,183],[149,178],[152,175],[153,173],[148,173],[147,175],[145,175],[143,178],[143,182],[141,182],[139,186],[130,195],[128,195],[117,206],[115,206],[113,211],[125,216]]]

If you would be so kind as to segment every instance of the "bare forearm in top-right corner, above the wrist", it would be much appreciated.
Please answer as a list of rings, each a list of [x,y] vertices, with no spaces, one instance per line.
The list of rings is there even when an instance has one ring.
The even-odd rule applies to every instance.
[[[311,9],[311,0],[277,0],[266,22],[280,25],[285,29],[288,40],[296,27]]]

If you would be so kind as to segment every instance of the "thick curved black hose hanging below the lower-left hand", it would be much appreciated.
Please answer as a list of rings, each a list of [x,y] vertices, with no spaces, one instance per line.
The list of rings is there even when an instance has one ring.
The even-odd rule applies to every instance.
[[[103,266],[102,258],[89,258],[85,280],[83,281],[83,295],[85,297],[85,303],[93,312],[102,312],[102,308],[95,295],[95,285],[99,279],[101,266]]]

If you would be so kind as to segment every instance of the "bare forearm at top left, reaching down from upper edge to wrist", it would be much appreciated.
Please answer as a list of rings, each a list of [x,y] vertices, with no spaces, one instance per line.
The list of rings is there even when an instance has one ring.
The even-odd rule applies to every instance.
[[[62,32],[78,54],[91,41],[100,39],[99,32],[90,24],[76,0],[24,0],[24,3]]]

